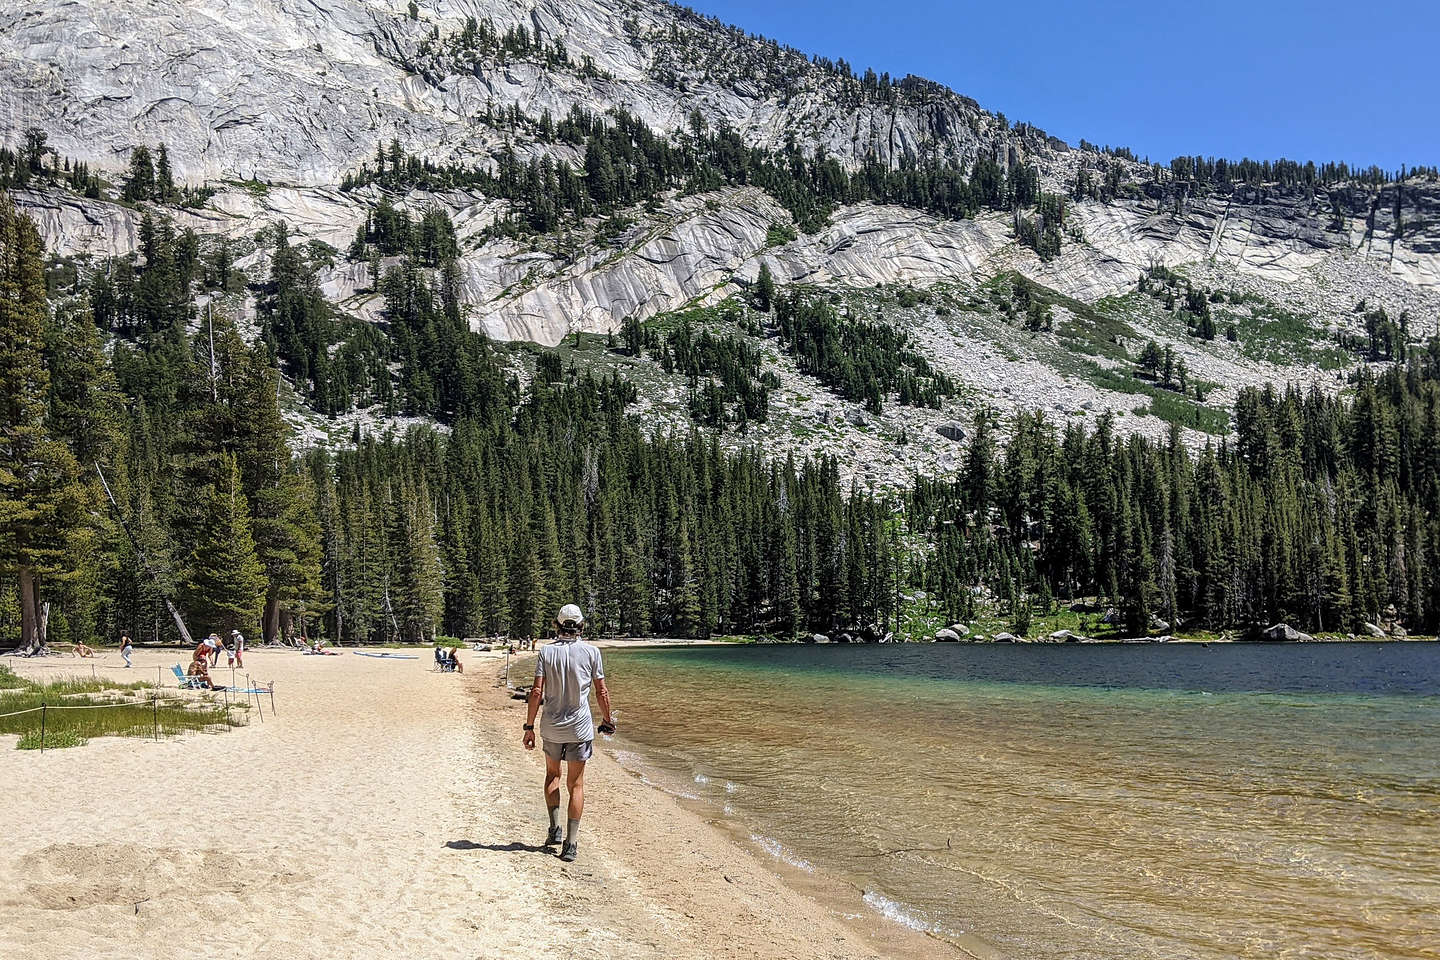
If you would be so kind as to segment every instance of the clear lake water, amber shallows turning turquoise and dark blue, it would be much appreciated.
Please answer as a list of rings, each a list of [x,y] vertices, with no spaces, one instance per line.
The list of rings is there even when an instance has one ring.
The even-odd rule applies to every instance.
[[[1440,957],[1440,645],[612,651],[622,761],[1014,957]]]

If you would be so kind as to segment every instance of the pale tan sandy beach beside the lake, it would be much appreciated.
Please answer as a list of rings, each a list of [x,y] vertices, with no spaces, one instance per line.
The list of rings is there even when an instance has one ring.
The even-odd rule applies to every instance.
[[[851,911],[855,891],[814,878],[802,892],[603,750],[582,856],[562,864],[537,848],[543,764],[520,746],[504,656],[462,655],[455,676],[419,653],[251,651],[276,711],[230,733],[43,756],[0,737],[0,956],[959,956]],[[140,651],[124,671],[109,653],[96,669],[153,678],[179,658]]]

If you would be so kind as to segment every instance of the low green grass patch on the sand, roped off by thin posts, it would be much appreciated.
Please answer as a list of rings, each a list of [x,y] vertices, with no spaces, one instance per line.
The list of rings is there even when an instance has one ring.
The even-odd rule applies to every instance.
[[[179,737],[243,723],[245,702],[232,702],[229,718],[216,694],[161,695],[151,701],[150,684],[120,684],[101,678],[39,682],[0,666],[0,734],[20,734],[20,750],[40,747],[42,711],[46,707],[45,747],[78,747],[95,737]],[[30,712],[20,712],[30,711]]]

